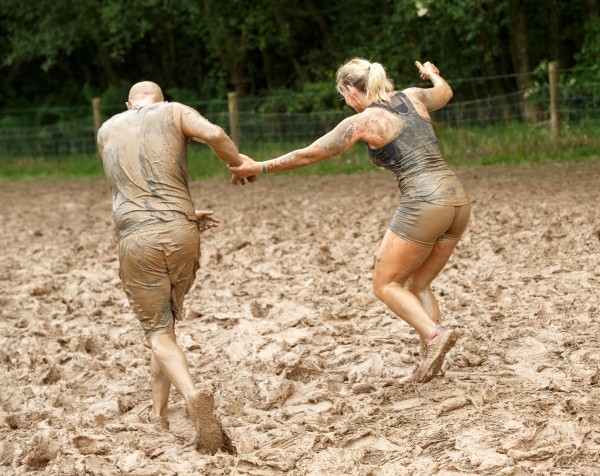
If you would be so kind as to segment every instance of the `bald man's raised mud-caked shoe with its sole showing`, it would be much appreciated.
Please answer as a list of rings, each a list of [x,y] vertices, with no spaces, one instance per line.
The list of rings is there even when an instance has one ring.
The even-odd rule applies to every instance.
[[[221,422],[213,413],[214,405],[214,397],[204,390],[196,390],[186,398],[187,411],[196,430],[198,453],[214,455],[226,446]]]

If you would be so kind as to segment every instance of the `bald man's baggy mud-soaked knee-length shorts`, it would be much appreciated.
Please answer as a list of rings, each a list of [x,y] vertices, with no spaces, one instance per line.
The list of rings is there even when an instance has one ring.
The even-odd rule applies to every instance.
[[[120,276],[146,337],[167,334],[181,319],[183,298],[200,265],[197,223],[143,227],[119,241]]]

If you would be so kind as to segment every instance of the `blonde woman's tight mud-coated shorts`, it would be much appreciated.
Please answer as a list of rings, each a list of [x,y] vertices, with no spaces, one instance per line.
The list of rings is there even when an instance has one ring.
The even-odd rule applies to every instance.
[[[469,223],[471,206],[437,205],[415,200],[402,200],[390,230],[402,238],[423,246],[436,241],[458,239]]]

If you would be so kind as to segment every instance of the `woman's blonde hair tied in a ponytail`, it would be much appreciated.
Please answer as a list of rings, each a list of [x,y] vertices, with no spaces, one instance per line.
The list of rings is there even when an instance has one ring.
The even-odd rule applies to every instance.
[[[344,63],[335,75],[335,87],[340,94],[348,86],[354,86],[375,102],[389,102],[394,92],[394,83],[388,79],[385,68],[364,58],[353,58]]]

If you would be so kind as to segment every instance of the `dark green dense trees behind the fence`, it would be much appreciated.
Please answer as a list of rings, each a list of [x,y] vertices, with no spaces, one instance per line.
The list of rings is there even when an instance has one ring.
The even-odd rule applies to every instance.
[[[142,79],[180,101],[294,91],[309,99],[273,107],[336,108],[353,56],[399,86],[431,60],[466,99],[526,89],[550,60],[597,80],[600,57],[598,0],[0,0],[0,30],[0,109],[122,103]]]

